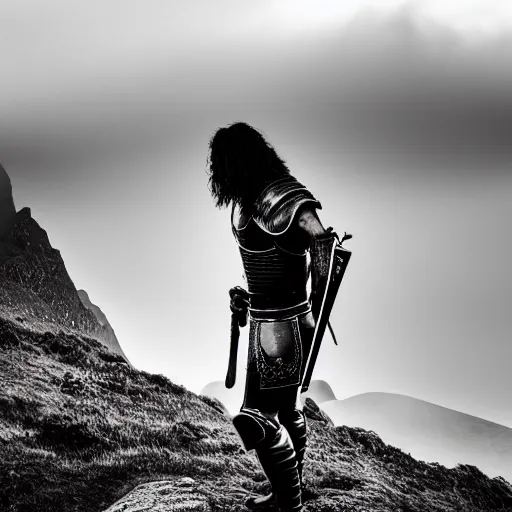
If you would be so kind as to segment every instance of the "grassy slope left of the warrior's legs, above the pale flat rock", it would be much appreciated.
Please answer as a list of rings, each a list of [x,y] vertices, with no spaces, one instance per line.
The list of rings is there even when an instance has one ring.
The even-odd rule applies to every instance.
[[[0,374],[1,510],[98,511],[143,480],[253,466],[214,401],[94,340],[0,319]]]

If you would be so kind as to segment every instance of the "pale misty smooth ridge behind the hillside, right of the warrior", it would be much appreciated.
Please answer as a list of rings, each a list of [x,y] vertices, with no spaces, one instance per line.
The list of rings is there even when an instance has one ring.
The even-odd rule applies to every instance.
[[[321,408],[335,425],[373,430],[416,459],[471,464],[512,480],[512,429],[504,425],[393,393],[364,393]]]

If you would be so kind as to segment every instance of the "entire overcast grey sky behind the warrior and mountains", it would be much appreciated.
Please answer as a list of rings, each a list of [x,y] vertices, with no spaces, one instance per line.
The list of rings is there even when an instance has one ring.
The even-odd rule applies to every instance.
[[[206,150],[243,120],[354,235],[314,377],[512,427],[510,2],[2,0],[0,39],[16,207],[135,366],[225,376],[244,283]]]

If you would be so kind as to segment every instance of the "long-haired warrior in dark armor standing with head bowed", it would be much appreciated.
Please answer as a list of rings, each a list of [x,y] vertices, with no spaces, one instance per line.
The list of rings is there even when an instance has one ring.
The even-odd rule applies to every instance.
[[[323,334],[317,332],[320,317],[326,322],[322,307],[334,300],[326,290],[340,244],[319,220],[320,202],[253,127],[238,122],[217,130],[208,171],[216,206],[231,205],[231,229],[248,287],[230,290],[235,325],[228,387],[236,371],[237,329],[247,323],[247,312],[250,316],[245,396],[233,424],[246,450],[256,451],[272,487],[270,495],[250,498],[246,507],[261,509],[275,501],[283,512],[298,512],[307,446],[300,393],[309,384],[316,338]]]

